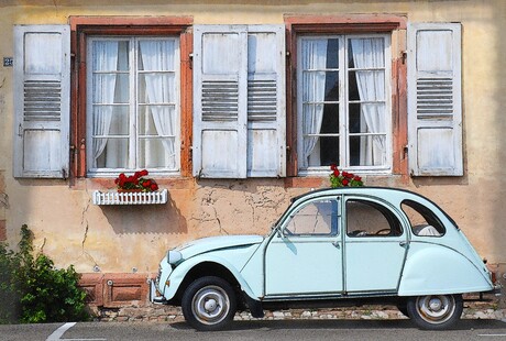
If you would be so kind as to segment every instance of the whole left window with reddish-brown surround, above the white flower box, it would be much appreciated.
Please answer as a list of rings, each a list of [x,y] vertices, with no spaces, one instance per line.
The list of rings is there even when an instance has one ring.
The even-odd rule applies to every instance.
[[[190,174],[189,16],[70,16],[72,173]]]

